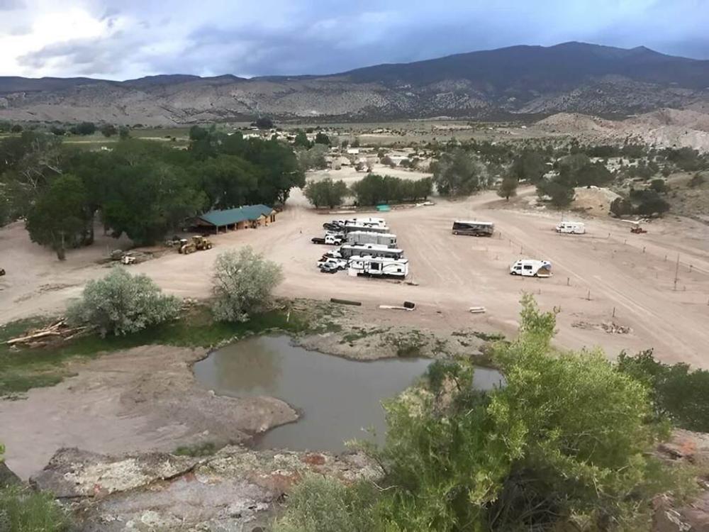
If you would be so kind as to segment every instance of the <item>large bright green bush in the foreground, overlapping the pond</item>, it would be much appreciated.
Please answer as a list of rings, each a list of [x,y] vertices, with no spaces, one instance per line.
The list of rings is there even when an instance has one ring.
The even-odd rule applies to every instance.
[[[469,359],[434,362],[385,404],[384,448],[362,445],[385,471],[376,501],[303,489],[281,521],[299,526],[277,530],[330,530],[335,516],[363,532],[649,529],[653,497],[691,489],[652,455],[666,425],[648,387],[603,353],[555,351],[555,326],[525,296],[519,338],[494,350],[505,383],[489,392],[471,388]],[[373,525],[347,528],[365,512]]]

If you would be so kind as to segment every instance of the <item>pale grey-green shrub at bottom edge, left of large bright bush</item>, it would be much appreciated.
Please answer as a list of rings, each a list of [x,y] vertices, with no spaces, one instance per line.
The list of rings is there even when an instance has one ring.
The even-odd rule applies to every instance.
[[[320,476],[305,477],[288,497],[274,532],[377,532],[372,484],[345,486]]]

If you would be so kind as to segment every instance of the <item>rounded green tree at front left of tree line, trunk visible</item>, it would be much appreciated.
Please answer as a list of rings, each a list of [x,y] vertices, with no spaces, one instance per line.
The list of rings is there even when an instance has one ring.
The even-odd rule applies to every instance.
[[[81,179],[63,174],[52,180],[30,209],[26,227],[33,242],[49,245],[59,260],[86,229],[87,195]]]

